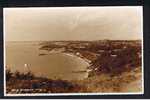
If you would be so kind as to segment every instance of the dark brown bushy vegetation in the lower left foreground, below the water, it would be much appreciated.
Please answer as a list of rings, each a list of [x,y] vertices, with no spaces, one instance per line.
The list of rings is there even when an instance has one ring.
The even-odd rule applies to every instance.
[[[7,69],[6,76],[7,93],[68,93],[81,89],[79,85],[67,80],[36,77],[31,72],[12,73]]]

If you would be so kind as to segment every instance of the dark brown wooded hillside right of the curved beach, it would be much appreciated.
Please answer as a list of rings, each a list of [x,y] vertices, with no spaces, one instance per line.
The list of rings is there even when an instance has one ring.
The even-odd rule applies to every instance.
[[[131,70],[141,66],[141,58],[136,48],[130,47],[118,52],[104,52],[92,62],[96,72],[120,74],[126,70]]]

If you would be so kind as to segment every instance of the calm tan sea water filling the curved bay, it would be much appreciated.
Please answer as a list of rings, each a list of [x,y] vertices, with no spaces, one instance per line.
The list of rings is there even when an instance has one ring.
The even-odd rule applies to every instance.
[[[88,76],[87,72],[74,73],[86,70],[88,63],[83,59],[64,53],[48,53],[39,47],[39,42],[6,42],[6,66],[12,71],[31,70],[37,76],[49,78],[70,80]],[[41,53],[47,55],[39,56]]]

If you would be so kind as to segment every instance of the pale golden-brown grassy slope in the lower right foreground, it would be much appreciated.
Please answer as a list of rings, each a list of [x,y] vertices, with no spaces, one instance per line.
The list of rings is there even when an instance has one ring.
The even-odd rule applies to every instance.
[[[142,89],[140,68],[117,76],[101,74],[75,82],[86,87],[86,92],[140,92]]]

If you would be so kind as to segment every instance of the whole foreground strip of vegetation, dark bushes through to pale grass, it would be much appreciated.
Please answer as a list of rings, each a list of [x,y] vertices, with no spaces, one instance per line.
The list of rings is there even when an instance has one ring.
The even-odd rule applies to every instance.
[[[9,71],[8,71],[9,72]],[[18,72],[17,72],[18,73]],[[9,73],[6,73],[8,75]],[[112,76],[110,74],[100,74],[89,77],[84,80],[61,80],[36,77],[30,79],[30,74],[26,78],[22,73],[6,81],[7,93],[92,93],[92,92],[140,92],[141,85],[130,85],[135,80],[141,80],[141,69],[139,67],[129,72],[123,72],[120,75]],[[23,76],[22,76],[23,75]],[[29,78],[27,78],[29,77]],[[141,84],[141,83],[139,83]],[[126,88],[132,89],[128,91]]]

